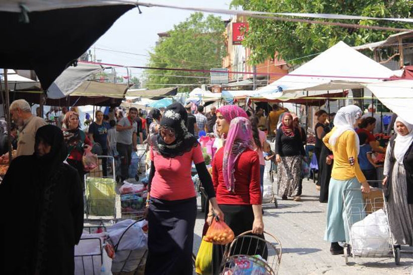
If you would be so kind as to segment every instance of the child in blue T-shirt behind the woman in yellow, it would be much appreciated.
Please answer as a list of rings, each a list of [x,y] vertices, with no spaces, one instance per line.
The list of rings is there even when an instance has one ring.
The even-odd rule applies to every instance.
[[[360,140],[359,165],[364,176],[368,181],[377,180],[377,165],[374,163],[372,155],[373,150],[368,143],[368,136],[364,132],[358,133]],[[378,182],[369,182],[370,186],[378,187]]]

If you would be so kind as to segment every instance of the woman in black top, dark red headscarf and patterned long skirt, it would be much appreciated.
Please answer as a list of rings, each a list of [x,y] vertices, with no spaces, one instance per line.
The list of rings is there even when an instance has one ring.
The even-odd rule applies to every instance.
[[[279,171],[279,196],[284,200],[293,196],[294,201],[301,201],[299,184],[305,151],[300,131],[294,128],[290,113],[284,113],[282,126],[277,130],[275,153]]]

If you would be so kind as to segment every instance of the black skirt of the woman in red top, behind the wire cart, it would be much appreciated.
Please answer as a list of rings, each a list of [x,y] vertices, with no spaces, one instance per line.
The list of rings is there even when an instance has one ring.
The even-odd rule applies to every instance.
[[[252,205],[233,205],[233,204],[220,204],[222,212],[224,212],[225,223],[234,231],[234,235],[238,236],[241,233],[252,230],[252,224],[254,223],[254,213],[252,211]],[[264,238],[263,235],[259,236]],[[241,242],[240,242],[241,243]],[[235,246],[237,251],[233,251],[231,254],[245,254],[254,255],[256,246],[262,244],[251,243],[250,250],[248,246]],[[252,249],[254,248],[254,249]],[[215,245],[212,250],[212,265],[213,274],[218,275],[221,272],[221,262],[224,254],[225,245]],[[262,251],[262,249],[261,249]],[[265,252],[261,255],[264,259],[267,259],[268,251],[265,248]]]

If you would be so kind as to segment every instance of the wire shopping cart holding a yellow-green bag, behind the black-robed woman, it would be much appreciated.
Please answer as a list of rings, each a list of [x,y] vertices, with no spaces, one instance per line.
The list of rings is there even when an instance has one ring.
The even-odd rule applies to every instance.
[[[115,171],[115,161],[112,156],[98,156],[99,163],[106,159]],[[103,177],[99,166],[85,175],[86,220],[116,221],[116,180],[113,173]]]

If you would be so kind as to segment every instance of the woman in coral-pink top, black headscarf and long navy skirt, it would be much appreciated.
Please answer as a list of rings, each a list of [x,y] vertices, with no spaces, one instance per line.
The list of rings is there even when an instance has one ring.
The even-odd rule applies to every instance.
[[[214,213],[224,219],[200,145],[186,129],[187,117],[180,103],[168,106],[160,121],[160,133],[151,136],[146,275],[192,274],[197,209],[192,162]]]

